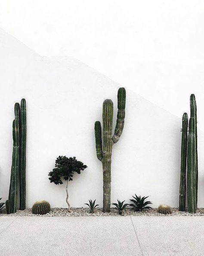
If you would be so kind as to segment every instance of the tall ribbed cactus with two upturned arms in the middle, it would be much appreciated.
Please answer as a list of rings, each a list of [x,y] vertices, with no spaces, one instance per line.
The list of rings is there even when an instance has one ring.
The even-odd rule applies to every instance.
[[[109,212],[111,205],[111,154],[114,143],[119,140],[125,118],[126,91],[123,87],[117,92],[117,122],[112,136],[113,125],[113,102],[105,99],[103,102],[103,143],[102,129],[99,121],[95,122],[96,155],[102,162],[103,167],[103,211]]]

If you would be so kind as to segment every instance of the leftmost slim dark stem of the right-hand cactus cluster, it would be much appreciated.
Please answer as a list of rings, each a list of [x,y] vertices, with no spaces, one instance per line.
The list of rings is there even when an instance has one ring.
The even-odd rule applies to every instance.
[[[188,115],[182,116],[182,141],[181,141],[181,176],[179,189],[179,211],[185,211],[186,193],[186,157],[187,157],[187,138],[188,138]]]

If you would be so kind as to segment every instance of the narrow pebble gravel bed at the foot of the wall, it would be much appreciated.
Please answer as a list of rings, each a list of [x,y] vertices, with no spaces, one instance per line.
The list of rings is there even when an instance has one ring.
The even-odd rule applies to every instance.
[[[179,211],[178,208],[172,208],[172,214],[160,214],[157,212],[157,208],[145,210],[142,212],[133,211],[131,209],[126,209],[122,216],[204,216],[204,208],[198,208],[195,214],[189,213],[187,211]],[[118,214],[118,211],[114,208],[111,208],[109,213],[105,213],[102,211],[102,208],[95,209],[94,213],[89,212],[89,208],[71,208],[71,212],[68,212],[67,208],[51,208],[51,211],[47,214],[32,214],[32,209],[28,208],[24,211],[17,210],[16,213],[6,214],[5,209],[0,216],[43,216],[43,217],[56,217],[56,216],[70,216],[70,217],[78,217],[78,216],[121,216]]]

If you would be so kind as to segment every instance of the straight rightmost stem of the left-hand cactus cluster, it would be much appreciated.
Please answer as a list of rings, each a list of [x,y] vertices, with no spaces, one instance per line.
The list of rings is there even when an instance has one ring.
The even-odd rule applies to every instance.
[[[19,176],[20,176],[20,210],[25,210],[25,150],[26,150],[26,102],[21,100],[20,110],[20,160],[19,160]]]

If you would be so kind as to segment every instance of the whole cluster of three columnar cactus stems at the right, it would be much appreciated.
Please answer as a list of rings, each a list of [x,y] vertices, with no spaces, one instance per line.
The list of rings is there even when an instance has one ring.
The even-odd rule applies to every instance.
[[[186,158],[187,158],[187,199],[189,212],[195,213],[198,202],[198,150],[197,150],[197,107],[195,95],[190,96],[190,119],[182,116],[181,176],[179,190],[179,211],[185,211]]]

